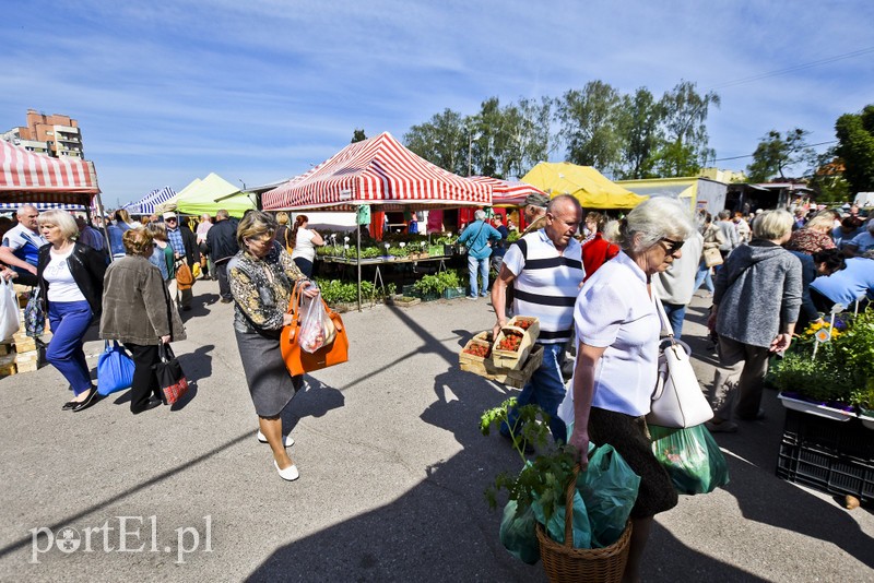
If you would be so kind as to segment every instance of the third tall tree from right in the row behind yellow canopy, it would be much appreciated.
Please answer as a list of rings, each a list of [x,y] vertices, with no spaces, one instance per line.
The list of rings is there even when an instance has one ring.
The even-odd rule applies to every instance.
[[[582,91],[570,90],[558,102],[559,132],[574,164],[607,171],[619,165],[619,93],[603,81],[590,81]]]

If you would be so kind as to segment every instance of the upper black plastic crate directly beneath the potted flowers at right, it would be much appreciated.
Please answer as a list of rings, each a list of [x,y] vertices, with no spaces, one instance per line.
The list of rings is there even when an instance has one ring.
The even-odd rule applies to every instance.
[[[874,464],[874,430],[859,419],[836,421],[787,409],[783,443]]]

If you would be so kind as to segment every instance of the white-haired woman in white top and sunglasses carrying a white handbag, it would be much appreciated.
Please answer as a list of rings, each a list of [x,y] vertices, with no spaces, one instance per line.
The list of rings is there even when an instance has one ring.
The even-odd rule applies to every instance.
[[[575,308],[578,350],[569,443],[583,468],[590,439],[610,443],[641,478],[625,581],[640,576],[653,516],[677,502],[668,473],[652,454],[643,419],[656,386],[662,328],[650,279],[682,255],[694,233],[688,210],[676,200],[641,203],[621,224],[622,251],[583,284]]]

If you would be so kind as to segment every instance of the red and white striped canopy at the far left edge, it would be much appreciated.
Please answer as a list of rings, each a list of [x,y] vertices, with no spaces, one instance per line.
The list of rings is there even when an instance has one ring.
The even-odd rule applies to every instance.
[[[91,162],[52,158],[0,140],[0,202],[88,206],[92,195],[99,191]]]

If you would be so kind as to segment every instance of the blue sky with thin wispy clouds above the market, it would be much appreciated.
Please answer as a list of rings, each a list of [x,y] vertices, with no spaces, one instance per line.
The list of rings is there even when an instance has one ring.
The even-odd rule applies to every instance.
[[[874,2],[13,0],[0,34],[0,131],[28,108],[79,121],[104,202],[217,172],[288,178],[350,142],[497,96],[588,81],[656,95],[685,79],[722,99],[718,158],[768,130],[834,140],[874,103]],[[560,159],[560,156],[557,157]],[[742,169],[748,158],[719,162]]]

